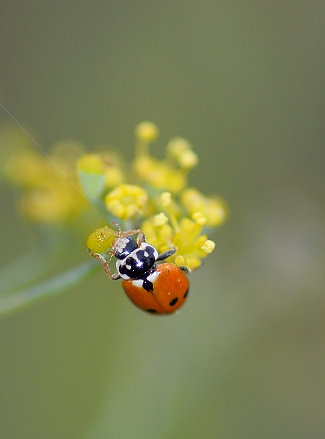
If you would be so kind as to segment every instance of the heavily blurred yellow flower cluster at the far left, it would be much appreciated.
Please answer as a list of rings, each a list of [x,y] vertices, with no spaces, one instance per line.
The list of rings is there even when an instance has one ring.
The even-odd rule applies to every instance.
[[[59,142],[46,157],[25,138],[16,128],[0,132],[0,147],[11,152],[2,174],[19,189],[18,209],[33,221],[67,224],[87,208],[76,190],[75,161],[83,147],[75,141]]]

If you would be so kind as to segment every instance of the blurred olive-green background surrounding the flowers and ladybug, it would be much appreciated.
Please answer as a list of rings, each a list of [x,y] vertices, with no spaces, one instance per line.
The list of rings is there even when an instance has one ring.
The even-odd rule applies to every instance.
[[[232,212],[179,315],[98,271],[1,319],[0,438],[324,438],[324,1],[5,0],[0,47],[1,101],[45,149],[131,155],[151,120],[157,156],[188,138],[191,184]],[[2,273],[36,273],[23,255],[51,250],[0,202]]]

